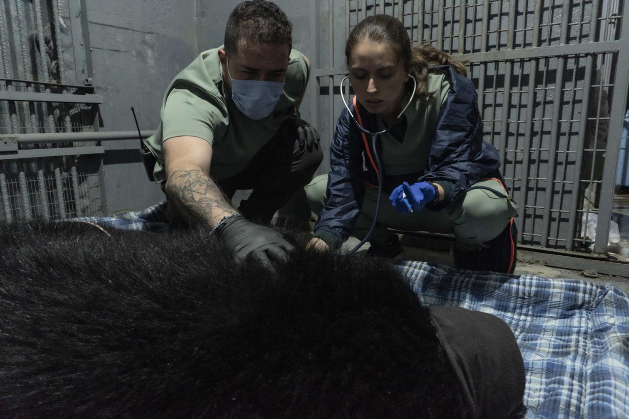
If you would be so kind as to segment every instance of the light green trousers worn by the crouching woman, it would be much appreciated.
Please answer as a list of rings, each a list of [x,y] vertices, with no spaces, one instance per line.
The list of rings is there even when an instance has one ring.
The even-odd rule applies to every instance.
[[[315,177],[306,187],[306,198],[311,210],[319,215],[327,201],[328,175]],[[505,194],[502,184],[496,179],[477,182],[474,186],[486,186]],[[367,235],[374,220],[377,191],[365,186],[365,199],[352,235],[362,239]],[[454,234],[461,249],[479,249],[497,237],[518,214],[513,201],[500,198],[485,189],[472,189],[463,199],[441,211],[423,209],[400,214],[391,205],[389,196],[382,194],[376,228],[370,237],[372,244],[381,244],[389,237],[388,228],[405,232],[431,232]]]

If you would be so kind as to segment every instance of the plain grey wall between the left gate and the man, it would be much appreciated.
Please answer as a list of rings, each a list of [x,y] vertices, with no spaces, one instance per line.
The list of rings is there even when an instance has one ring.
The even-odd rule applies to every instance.
[[[86,0],[94,84],[103,131],[159,125],[162,96],[175,74],[198,54],[194,0]],[[148,181],[138,140],[106,142],[105,191],[110,214],[164,198]]]

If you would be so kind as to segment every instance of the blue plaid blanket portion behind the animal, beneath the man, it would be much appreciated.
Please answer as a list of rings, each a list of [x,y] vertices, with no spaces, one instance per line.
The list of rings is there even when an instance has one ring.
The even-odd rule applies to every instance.
[[[142,230],[156,233],[167,232],[172,228],[170,221],[166,218],[165,200],[148,207],[146,210],[120,213],[113,217],[79,217],[62,221],[87,221],[103,228]]]

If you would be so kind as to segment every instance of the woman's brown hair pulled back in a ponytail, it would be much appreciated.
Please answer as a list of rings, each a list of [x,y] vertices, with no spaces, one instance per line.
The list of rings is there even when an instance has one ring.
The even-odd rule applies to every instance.
[[[393,49],[398,59],[404,62],[406,72],[415,77],[417,81],[415,94],[417,97],[432,96],[433,94],[433,92],[428,92],[426,88],[426,76],[430,67],[450,65],[457,73],[467,75],[465,63],[454,60],[449,53],[431,45],[413,47],[404,25],[387,14],[369,16],[353,28],[345,44],[345,59],[348,65],[353,48],[365,39],[387,43]]]

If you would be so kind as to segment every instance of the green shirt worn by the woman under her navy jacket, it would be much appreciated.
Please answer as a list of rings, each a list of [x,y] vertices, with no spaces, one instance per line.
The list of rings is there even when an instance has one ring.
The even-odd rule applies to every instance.
[[[408,124],[404,141],[400,143],[388,132],[382,135],[381,159],[382,167],[387,175],[423,172],[426,169],[432,136],[439,120],[441,107],[448,98],[450,82],[443,74],[428,74],[426,87],[428,92],[434,92],[434,94],[421,97],[404,111]],[[408,99],[410,99],[409,94],[404,98],[404,105]],[[378,116],[378,125],[380,130],[385,129],[380,116]]]

